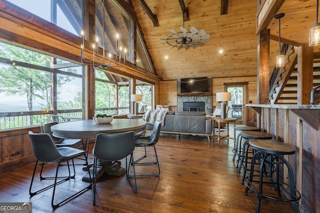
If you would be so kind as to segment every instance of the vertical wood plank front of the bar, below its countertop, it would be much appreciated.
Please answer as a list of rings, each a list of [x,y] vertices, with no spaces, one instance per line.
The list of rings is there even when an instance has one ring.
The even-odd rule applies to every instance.
[[[308,213],[320,210],[320,131],[302,121],[289,109],[262,108],[261,128],[275,140],[296,147],[285,156],[294,173],[295,187],[302,194],[299,204]],[[285,175],[285,174],[283,174]]]

